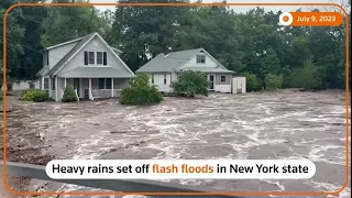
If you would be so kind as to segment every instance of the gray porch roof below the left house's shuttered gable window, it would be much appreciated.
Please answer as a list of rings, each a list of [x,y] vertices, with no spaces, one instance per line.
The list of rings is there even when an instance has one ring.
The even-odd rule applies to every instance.
[[[58,75],[62,78],[133,78],[134,75],[124,69],[111,66],[80,66],[64,74]]]

